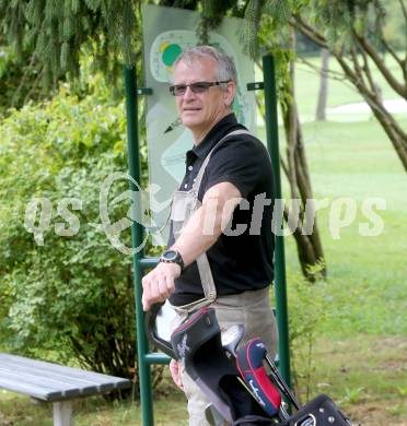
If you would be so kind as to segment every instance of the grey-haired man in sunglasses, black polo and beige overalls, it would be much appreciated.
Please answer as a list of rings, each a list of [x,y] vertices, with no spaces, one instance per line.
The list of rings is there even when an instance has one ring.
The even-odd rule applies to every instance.
[[[210,304],[221,327],[244,323],[244,340],[259,335],[272,353],[271,164],[232,113],[233,61],[209,46],[187,49],[174,64],[170,91],[194,147],[173,199],[168,250],[142,280],[143,308],[170,298],[183,319]],[[170,368],[187,395],[189,424],[207,425],[208,401],[176,362]]]

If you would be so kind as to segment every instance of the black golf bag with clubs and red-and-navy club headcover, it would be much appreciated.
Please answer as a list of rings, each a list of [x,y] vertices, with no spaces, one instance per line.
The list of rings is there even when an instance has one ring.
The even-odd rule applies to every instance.
[[[151,320],[150,320],[151,322]],[[171,335],[171,343],[150,328],[150,338],[179,360],[210,400],[216,413],[233,426],[349,426],[335,403],[322,394],[300,406],[260,339],[237,350],[244,328],[235,326],[221,333],[213,308],[189,316]],[[267,371],[265,365],[268,366]],[[282,398],[296,410],[289,415]],[[208,413],[207,413],[208,417]]]

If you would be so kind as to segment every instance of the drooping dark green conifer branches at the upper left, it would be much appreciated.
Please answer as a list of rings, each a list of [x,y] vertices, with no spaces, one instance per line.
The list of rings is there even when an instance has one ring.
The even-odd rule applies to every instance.
[[[0,0],[0,49],[5,46],[10,57],[4,80],[0,69],[1,104],[21,106],[56,92],[58,81],[78,78],[83,52],[114,82],[121,75],[123,63],[136,63],[140,54],[139,3]],[[11,98],[5,96],[9,93],[13,93]]]

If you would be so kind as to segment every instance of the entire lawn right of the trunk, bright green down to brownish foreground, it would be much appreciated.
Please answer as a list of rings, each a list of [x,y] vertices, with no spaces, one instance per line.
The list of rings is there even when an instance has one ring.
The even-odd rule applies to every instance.
[[[309,122],[303,131],[314,197],[328,200],[318,213],[327,303],[310,393],[328,393],[363,425],[407,425],[406,174],[375,121]],[[338,198],[356,206],[353,221],[342,228],[333,216]],[[385,203],[385,210],[375,210],[383,224],[377,236],[359,232],[370,223],[362,212],[369,198]],[[286,249],[289,270],[298,271],[292,239],[286,238]],[[306,366],[300,362],[296,368]],[[303,388],[305,382],[300,378]]]

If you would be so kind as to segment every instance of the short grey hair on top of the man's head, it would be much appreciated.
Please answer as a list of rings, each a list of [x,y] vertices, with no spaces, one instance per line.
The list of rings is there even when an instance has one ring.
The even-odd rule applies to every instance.
[[[232,58],[212,46],[195,46],[185,49],[174,62],[174,69],[181,61],[191,66],[194,61],[208,57],[214,59],[218,63],[216,75],[218,81],[231,80],[237,84],[236,67]]]

